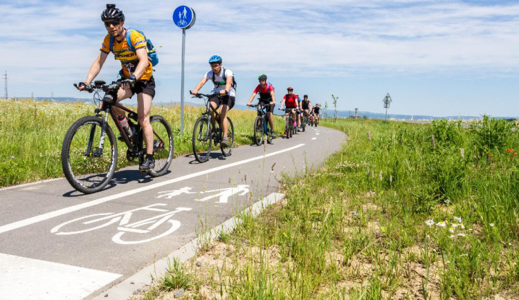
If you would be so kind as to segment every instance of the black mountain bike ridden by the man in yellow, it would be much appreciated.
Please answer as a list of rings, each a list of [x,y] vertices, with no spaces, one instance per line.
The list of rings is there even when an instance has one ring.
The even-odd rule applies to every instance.
[[[78,85],[74,84],[74,86],[77,88]],[[108,124],[109,116],[128,147],[127,160],[133,161],[138,158],[139,165],[144,161],[146,148],[143,130],[138,124],[138,115],[131,109],[116,103],[119,87],[119,82],[106,84],[102,80],[96,80],[86,86],[85,91],[94,93],[93,102],[98,106],[94,111],[95,115],[87,115],[75,121],[63,140],[61,153],[63,173],[72,187],[84,194],[100,191],[116,171],[118,145],[116,135]],[[101,92],[104,92],[103,97],[100,95]],[[113,107],[128,113],[128,132],[118,120]],[[172,130],[170,124],[160,115],[152,115],[149,117],[149,122],[154,133],[155,168],[148,174],[157,177],[164,175],[172,162],[174,150]],[[105,146],[105,142],[108,142],[108,147]]]

